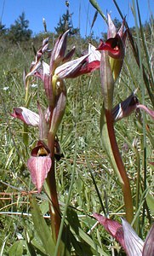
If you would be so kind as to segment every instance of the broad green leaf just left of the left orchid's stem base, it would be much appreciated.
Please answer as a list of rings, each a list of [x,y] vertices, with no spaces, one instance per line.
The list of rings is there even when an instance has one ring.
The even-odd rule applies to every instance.
[[[48,225],[46,224],[42,216],[40,208],[37,205],[37,201],[31,195],[30,195],[30,204],[31,204],[32,220],[34,223],[34,228],[37,231],[37,235],[42,241],[43,247],[46,253],[48,253],[48,255],[50,256],[53,256],[55,244],[51,236],[51,231],[49,230]]]

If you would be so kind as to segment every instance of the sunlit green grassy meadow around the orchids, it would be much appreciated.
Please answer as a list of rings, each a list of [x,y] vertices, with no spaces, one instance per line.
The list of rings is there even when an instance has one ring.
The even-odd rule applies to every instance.
[[[148,65],[152,71],[152,27],[151,37],[145,38],[145,43],[143,39],[137,30],[134,42],[139,49],[139,62],[144,63],[147,78],[151,79]],[[42,44],[39,37],[26,44],[0,42],[0,255],[3,256],[49,255],[43,250],[36,228],[39,220],[34,224],[34,217],[31,217],[29,195],[35,197],[45,216],[45,223],[50,227],[48,196],[44,190],[41,194],[37,193],[26,166],[31,149],[37,142],[38,129],[28,126],[26,146],[23,141],[23,123],[10,115],[14,108],[25,106],[23,71],[25,68],[29,70],[35,57],[32,41],[36,49]],[[49,47],[52,49],[52,38],[50,42]],[[77,47],[78,54],[88,47],[88,39],[68,38],[67,48],[71,48],[71,45]],[[94,41],[94,45],[97,47],[99,42]],[[144,45],[148,50],[149,63]],[[127,40],[123,69],[115,84],[113,105],[122,102],[138,89],[136,95],[139,102],[153,109],[143,76],[143,69],[138,66],[130,41]],[[125,218],[121,185],[100,140],[100,112],[103,105],[100,71],[77,79],[66,79],[66,90],[66,112],[57,133],[64,156],[55,163],[55,175],[61,216],[66,211],[64,226],[70,225],[71,230],[73,225],[78,228],[77,232],[74,228],[73,238],[70,236],[70,255],[125,255],[117,241],[92,216],[93,212],[104,214],[103,206],[108,218],[119,222],[121,217]],[[37,112],[37,101],[46,106],[40,79],[31,78],[29,94],[29,108],[32,111]],[[134,112],[119,120],[114,127],[132,191],[134,230],[145,240],[154,214],[154,168],[151,165],[154,162],[153,120],[143,111]]]

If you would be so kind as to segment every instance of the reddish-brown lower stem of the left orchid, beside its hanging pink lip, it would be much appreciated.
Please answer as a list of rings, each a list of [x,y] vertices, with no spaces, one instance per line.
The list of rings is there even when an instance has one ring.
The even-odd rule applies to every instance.
[[[48,134],[48,148],[50,148],[50,152],[51,152],[52,166],[50,171],[48,172],[47,183],[48,183],[48,189],[50,192],[50,199],[52,201],[52,207],[50,207],[51,227],[52,227],[54,240],[56,241],[59,235],[61,217],[60,217],[60,205],[59,205],[57,189],[56,189],[55,170],[54,170],[54,139],[55,139],[54,134],[50,132]]]

